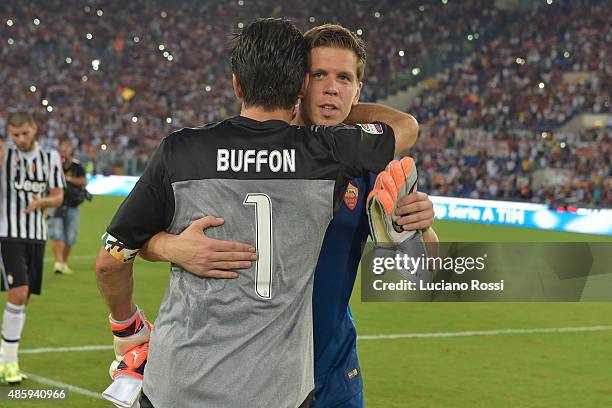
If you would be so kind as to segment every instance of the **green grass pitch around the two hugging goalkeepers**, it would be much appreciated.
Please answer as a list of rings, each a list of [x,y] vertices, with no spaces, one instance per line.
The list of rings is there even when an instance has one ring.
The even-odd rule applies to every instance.
[[[53,380],[79,387],[80,393],[70,392],[67,402],[16,406],[112,406],[82,394],[86,390],[100,393],[110,383],[107,370],[113,358],[111,350],[39,349],[112,344],[108,312],[94,279],[94,260],[99,237],[120,201],[96,197],[83,205],[81,235],[70,262],[76,274],[54,275],[48,252],[43,296],[32,298],[28,307],[20,364],[42,383],[28,380],[22,386],[49,388],[44,382]],[[445,241],[612,241],[601,236],[451,222],[437,222],[436,229]],[[152,319],[167,282],[165,265],[137,261],[135,299]],[[607,326],[612,325],[612,303],[366,304],[359,300],[358,286],[359,279],[351,307],[359,334],[366,336],[358,341],[358,348],[368,408],[612,405],[610,330],[371,337]],[[4,305],[6,295],[0,295],[0,300]],[[7,389],[3,386],[0,390],[6,395]],[[0,397],[0,406],[13,403]]]

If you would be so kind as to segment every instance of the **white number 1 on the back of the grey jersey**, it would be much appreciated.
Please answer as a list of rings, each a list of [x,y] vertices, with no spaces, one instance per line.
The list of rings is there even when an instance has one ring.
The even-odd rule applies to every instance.
[[[255,293],[257,296],[272,297],[272,201],[263,193],[249,193],[244,205],[255,206]]]

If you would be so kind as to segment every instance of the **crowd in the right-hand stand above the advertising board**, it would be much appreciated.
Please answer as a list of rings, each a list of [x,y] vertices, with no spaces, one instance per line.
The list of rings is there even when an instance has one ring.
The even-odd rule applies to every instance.
[[[612,111],[611,12],[544,6],[428,81],[409,108],[429,125],[416,146],[421,189],[612,207],[612,133],[562,131],[578,113]]]

